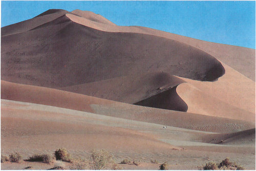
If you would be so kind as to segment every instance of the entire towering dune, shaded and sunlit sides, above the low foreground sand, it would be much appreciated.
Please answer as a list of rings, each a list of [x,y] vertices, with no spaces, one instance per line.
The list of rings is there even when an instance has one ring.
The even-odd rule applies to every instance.
[[[108,21],[108,19],[89,11],[75,10],[68,12],[54,9],[48,10],[30,20],[2,28],[4,32],[4,34],[2,32],[2,44],[8,47],[12,46],[10,49],[2,48],[2,79],[35,86],[57,88],[120,102],[138,103],[147,101],[159,93],[168,94],[160,91],[159,88],[163,86],[162,83],[154,87],[145,88],[144,85],[148,85],[150,82],[147,82],[147,79],[144,79],[144,82],[139,81],[144,75],[141,72],[146,74],[148,72],[164,71],[169,75],[179,75],[191,79],[200,77],[200,80],[215,80],[225,70],[219,61],[213,60],[214,62],[212,63],[214,58],[203,51],[214,55],[219,60],[227,61],[226,59],[236,58],[236,60],[227,61],[234,68],[237,68],[236,63],[230,63],[229,61],[237,61],[237,63],[243,64],[242,66],[250,66],[247,60],[255,55],[248,48],[235,48],[228,45],[220,46],[219,44],[150,28],[116,26]],[[21,26],[26,26],[25,29],[27,30],[24,30]],[[49,33],[48,29],[54,31]],[[8,30],[15,35],[7,36],[6,32]],[[80,35],[84,35],[84,37]],[[45,37],[50,38],[45,39]],[[84,39],[88,41],[84,41]],[[18,40],[19,43],[13,45],[14,40]],[[184,44],[180,44],[176,40]],[[131,43],[129,44],[129,42]],[[156,42],[158,42],[159,46],[155,46]],[[170,45],[172,45],[173,49],[169,48]],[[84,47],[86,47],[86,52],[84,52]],[[203,51],[198,51],[193,47]],[[19,49],[23,50],[20,51]],[[161,53],[157,49],[161,49]],[[186,49],[187,52],[185,51]],[[165,57],[165,55],[169,56],[169,54],[170,58]],[[238,54],[244,57],[243,60],[240,59],[241,57]],[[101,57],[102,55],[104,58]],[[180,58],[180,55],[184,58]],[[10,56],[15,56],[15,58]],[[122,57],[120,58],[120,56]],[[193,60],[188,61],[189,57],[187,56],[190,56]],[[198,63],[194,63],[195,56]],[[220,65],[216,66],[214,64],[216,61]],[[169,63],[171,63],[170,66],[168,66]],[[211,66],[209,66],[209,63],[211,63]],[[217,70],[216,67],[218,68]],[[184,79],[188,83],[183,83],[181,86],[178,86],[178,84],[173,85],[178,86],[178,96],[182,99],[178,101],[183,106],[181,108],[170,108],[173,104],[177,104],[177,98],[173,100],[173,97],[176,96],[169,96],[169,100],[161,105],[156,104],[159,98],[152,97],[151,99],[155,100],[144,102],[143,105],[148,106],[150,104],[163,109],[188,110],[188,112],[209,116],[233,118],[234,115],[236,119],[243,119],[244,116],[246,117],[243,120],[254,119],[255,90],[253,87],[255,87],[255,82],[227,65],[225,65],[225,68],[228,69],[228,73],[226,72],[224,76],[215,82]],[[239,71],[246,73],[246,68],[240,68]],[[133,80],[129,76],[131,74],[135,75]],[[124,77],[130,78],[130,82],[126,82],[126,86],[124,86],[125,83],[119,82],[122,81],[119,78]],[[136,85],[127,86],[133,84],[132,82],[136,82]],[[191,82],[193,82],[193,89],[191,89],[191,86],[186,87],[186,85],[191,85]],[[197,89],[195,91],[194,87],[199,91]],[[242,87],[246,91],[241,91]],[[111,90],[106,91],[108,89]],[[190,90],[190,92],[187,90]],[[136,93],[138,95],[135,95]],[[161,96],[159,95],[159,97]],[[226,105],[228,106],[227,108],[225,107]],[[216,108],[216,106],[222,107]]]

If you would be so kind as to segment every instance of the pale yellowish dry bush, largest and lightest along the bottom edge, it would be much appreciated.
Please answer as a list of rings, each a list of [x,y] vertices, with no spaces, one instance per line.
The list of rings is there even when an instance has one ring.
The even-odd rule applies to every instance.
[[[103,149],[92,152],[91,162],[91,169],[95,170],[112,169],[115,165],[113,156]]]

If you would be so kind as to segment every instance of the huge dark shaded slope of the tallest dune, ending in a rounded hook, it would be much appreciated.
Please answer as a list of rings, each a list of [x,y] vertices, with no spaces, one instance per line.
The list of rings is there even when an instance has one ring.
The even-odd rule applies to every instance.
[[[2,37],[3,80],[56,88],[143,72],[204,81],[225,73],[214,57],[175,40],[98,31],[66,16],[56,20]]]

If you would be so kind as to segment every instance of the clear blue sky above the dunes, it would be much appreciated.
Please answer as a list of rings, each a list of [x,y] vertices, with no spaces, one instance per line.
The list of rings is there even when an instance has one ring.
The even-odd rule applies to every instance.
[[[255,49],[255,1],[2,1],[1,27],[48,9],[93,11],[120,26]]]

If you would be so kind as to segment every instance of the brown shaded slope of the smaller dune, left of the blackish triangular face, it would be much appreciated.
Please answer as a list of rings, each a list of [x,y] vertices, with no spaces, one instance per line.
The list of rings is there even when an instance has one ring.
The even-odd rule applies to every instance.
[[[156,72],[117,77],[58,89],[124,103],[136,103],[178,86],[182,82],[184,82],[182,79],[173,75]]]

